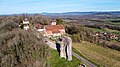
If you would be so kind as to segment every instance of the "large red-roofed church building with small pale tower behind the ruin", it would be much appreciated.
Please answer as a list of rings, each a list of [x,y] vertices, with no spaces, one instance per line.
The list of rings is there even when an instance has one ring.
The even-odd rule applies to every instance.
[[[56,25],[55,21],[50,25],[36,24],[35,29],[42,32],[44,36],[62,36],[65,34],[65,28],[63,25]]]

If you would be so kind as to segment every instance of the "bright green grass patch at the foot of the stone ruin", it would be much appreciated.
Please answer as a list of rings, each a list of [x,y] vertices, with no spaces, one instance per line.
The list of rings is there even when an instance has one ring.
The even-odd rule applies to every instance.
[[[67,61],[64,58],[60,58],[56,50],[50,49],[50,67],[76,67],[80,60],[73,57],[72,61]]]

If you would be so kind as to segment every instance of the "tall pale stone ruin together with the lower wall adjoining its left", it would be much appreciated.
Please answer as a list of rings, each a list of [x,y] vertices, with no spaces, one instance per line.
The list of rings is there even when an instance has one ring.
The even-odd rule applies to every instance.
[[[48,46],[57,50],[61,58],[65,58],[68,61],[72,60],[72,39],[70,37],[61,37],[59,40],[57,40],[59,43],[51,41],[48,38],[46,38],[46,40]]]

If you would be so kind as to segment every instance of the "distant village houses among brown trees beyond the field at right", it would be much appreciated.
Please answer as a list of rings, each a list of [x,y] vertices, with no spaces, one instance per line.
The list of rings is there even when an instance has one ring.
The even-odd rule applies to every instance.
[[[95,43],[102,45],[105,48],[112,48],[120,51],[119,42],[120,36],[108,32],[95,32],[91,34],[95,37]]]

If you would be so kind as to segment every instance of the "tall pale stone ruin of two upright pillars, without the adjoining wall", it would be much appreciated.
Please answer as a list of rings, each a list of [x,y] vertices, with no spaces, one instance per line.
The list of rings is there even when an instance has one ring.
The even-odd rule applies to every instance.
[[[65,58],[68,61],[72,60],[72,39],[70,37],[62,37],[60,47],[60,57]]]

